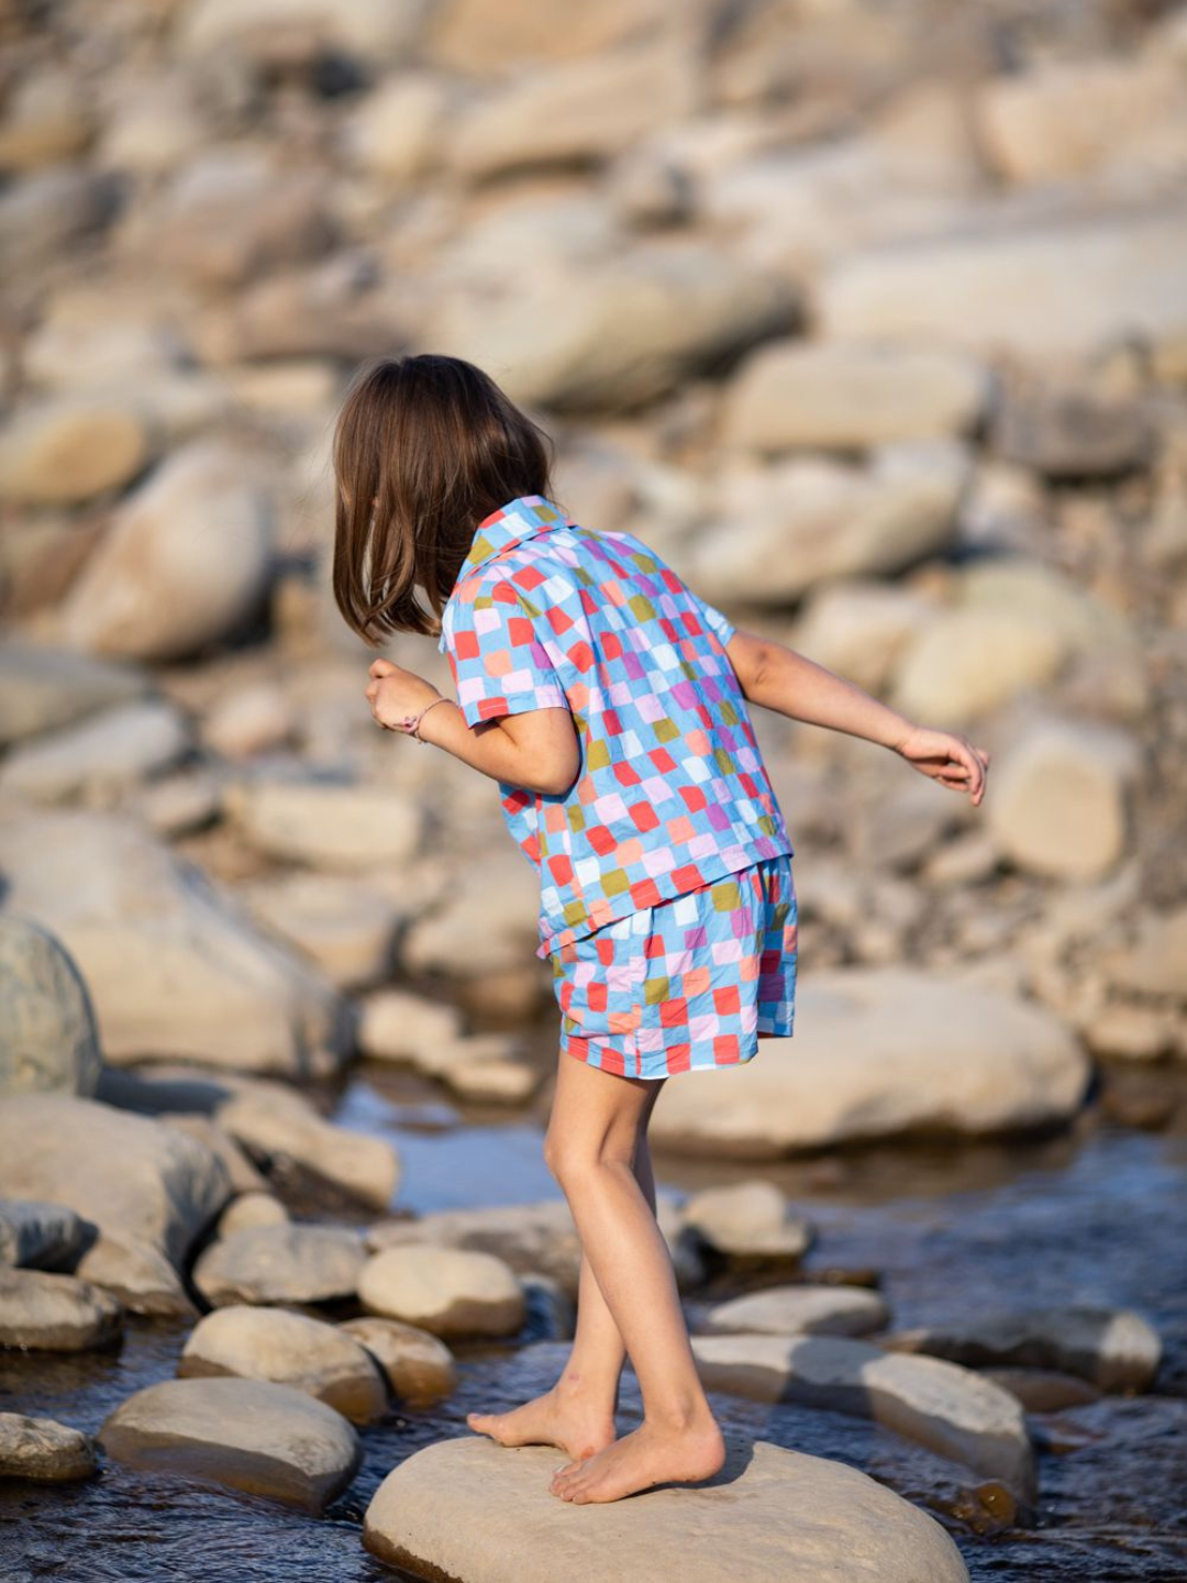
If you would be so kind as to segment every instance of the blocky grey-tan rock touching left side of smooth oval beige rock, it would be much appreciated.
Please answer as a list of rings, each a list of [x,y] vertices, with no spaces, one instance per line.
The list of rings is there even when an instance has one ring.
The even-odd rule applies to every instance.
[[[334,1225],[258,1225],[210,1243],[193,1284],[214,1308],[233,1303],[332,1303],[355,1296],[362,1239]]]

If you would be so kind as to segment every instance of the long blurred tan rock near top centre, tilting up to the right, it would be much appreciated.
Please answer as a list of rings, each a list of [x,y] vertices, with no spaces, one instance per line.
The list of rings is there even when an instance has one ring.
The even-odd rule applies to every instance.
[[[448,163],[489,177],[606,160],[695,106],[696,63],[669,40],[529,71],[448,128]]]

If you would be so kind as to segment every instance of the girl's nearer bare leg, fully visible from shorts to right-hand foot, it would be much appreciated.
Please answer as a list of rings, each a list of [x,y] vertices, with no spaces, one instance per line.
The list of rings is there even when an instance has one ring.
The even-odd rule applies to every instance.
[[[559,1067],[544,1157],[635,1366],[644,1412],[638,1429],[554,1474],[552,1494],[565,1501],[617,1501],[655,1483],[709,1479],[725,1461],[668,1244],[633,1170],[654,1086],[571,1056]],[[605,1355],[594,1361],[605,1366]],[[586,1358],[581,1366],[584,1377]],[[605,1377],[592,1388],[605,1393]]]

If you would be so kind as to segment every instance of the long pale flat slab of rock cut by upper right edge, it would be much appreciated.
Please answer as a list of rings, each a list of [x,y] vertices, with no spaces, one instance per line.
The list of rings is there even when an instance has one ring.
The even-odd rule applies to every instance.
[[[818,332],[839,340],[939,340],[1027,363],[1075,358],[1138,334],[1155,345],[1187,329],[1173,206],[1102,207],[1075,217],[992,217],[950,236],[864,247],[818,287]],[[1076,260],[1068,290],[1067,261]],[[1024,279],[1026,291],[1014,282]]]

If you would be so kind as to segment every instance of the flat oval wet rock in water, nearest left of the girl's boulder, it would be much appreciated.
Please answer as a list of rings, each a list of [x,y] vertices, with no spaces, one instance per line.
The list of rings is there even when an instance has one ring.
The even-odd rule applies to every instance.
[[[120,1403],[100,1442],[144,1472],[212,1480],[305,1512],[321,1512],[362,1461],[342,1414],[271,1380],[161,1380]]]

